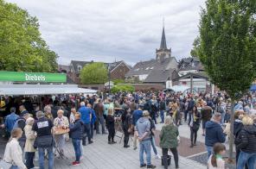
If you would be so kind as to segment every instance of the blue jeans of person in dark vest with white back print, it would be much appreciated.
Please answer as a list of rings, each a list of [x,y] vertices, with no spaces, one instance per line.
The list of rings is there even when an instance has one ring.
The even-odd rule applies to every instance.
[[[47,150],[48,152],[48,169],[53,169],[54,168],[54,151],[53,147],[48,147],[48,148],[42,148],[38,147],[38,155],[39,155],[39,168],[44,169],[44,152]]]

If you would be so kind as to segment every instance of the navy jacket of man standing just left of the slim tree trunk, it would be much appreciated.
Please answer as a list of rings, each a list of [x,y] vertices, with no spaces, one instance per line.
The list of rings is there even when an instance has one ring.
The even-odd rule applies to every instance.
[[[205,125],[205,145],[213,147],[216,142],[225,142],[226,135],[223,133],[221,125],[217,122],[208,121]]]

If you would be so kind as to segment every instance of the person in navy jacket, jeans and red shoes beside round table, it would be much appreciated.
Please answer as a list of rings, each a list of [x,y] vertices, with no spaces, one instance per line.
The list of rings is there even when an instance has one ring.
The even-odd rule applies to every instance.
[[[74,124],[70,125],[70,137],[72,138],[72,143],[75,152],[75,161],[72,163],[73,166],[80,165],[81,147],[80,142],[83,135],[83,122],[80,120],[80,113],[74,115]]]

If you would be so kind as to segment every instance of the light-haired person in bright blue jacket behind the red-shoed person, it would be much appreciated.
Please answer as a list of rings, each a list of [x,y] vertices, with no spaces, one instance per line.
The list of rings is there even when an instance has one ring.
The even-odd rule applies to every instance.
[[[93,143],[93,141],[91,140],[92,111],[90,111],[90,109],[86,107],[86,103],[84,102],[80,103],[80,109],[78,111],[80,112],[80,115],[81,115],[81,121],[84,122],[84,132],[88,137],[88,143],[92,144]],[[83,146],[86,146],[86,136],[83,137],[82,144]]]

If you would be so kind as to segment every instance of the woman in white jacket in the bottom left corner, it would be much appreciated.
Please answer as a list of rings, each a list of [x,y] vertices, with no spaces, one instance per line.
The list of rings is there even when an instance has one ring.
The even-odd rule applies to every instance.
[[[18,140],[22,137],[22,129],[14,128],[11,131],[10,140],[7,143],[3,155],[3,161],[6,163],[5,168],[10,169],[27,169],[22,161],[22,147]],[[9,166],[8,166],[9,165]]]

